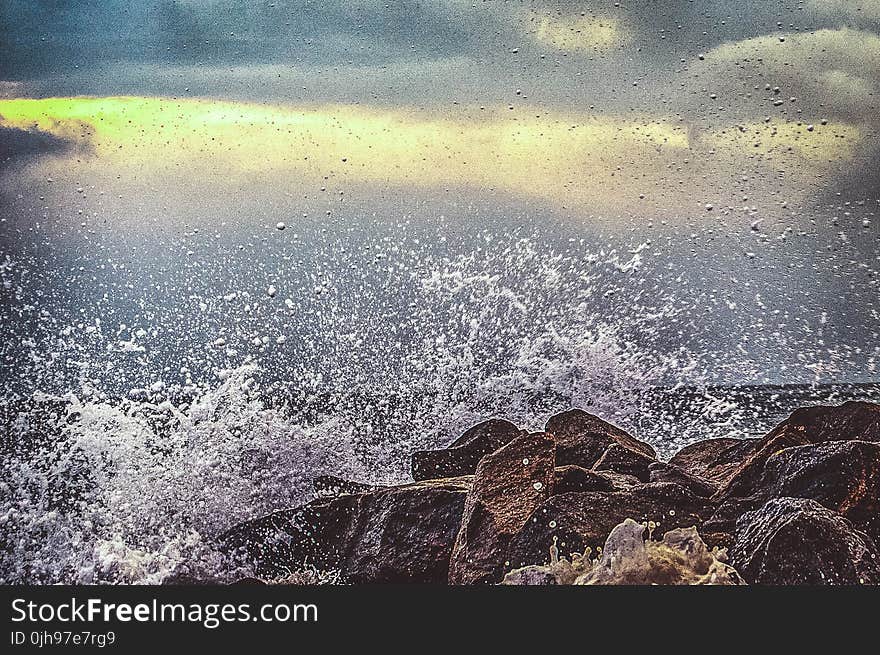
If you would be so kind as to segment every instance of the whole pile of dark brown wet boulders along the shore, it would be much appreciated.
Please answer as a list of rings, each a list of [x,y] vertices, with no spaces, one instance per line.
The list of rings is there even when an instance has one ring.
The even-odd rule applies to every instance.
[[[763,438],[700,441],[668,462],[580,409],[538,433],[493,419],[414,453],[412,476],[318,478],[313,501],[237,525],[219,548],[262,580],[880,583],[876,404],[801,408]]]

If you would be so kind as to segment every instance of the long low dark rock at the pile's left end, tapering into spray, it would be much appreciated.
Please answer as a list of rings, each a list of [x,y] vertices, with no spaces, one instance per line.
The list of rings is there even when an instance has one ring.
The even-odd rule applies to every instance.
[[[343,582],[446,582],[468,488],[453,478],[318,499],[240,524],[218,544],[261,578],[314,568]]]

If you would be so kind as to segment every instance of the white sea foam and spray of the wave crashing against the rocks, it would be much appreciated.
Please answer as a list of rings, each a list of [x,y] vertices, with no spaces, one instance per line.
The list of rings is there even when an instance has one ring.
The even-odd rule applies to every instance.
[[[308,500],[313,477],[403,481],[413,450],[444,445],[491,416],[540,429],[551,414],[584,407],[666,455],[767,427],[767,417],[756,422],[754,408],[722,393],[684,394],[670,406],[651,395],[699,386],[707,371],[700,353],[663,347],[687,309],[650,287],[633,292],[628,276],[644,251],[572,260],[522,240],[495,255],[420,253],[400,287],[383,291],[412,294],[405,312],[386,316],[370,298],[374,313],[359,314],[366,310],[331,291],[298,301],[320,305],[288,299],[273,309],[271,321],[287,320],[292,305],[297,315],[319,312],[330,339],[289,326],[283,340],[256,338],[281,328],[267,319],[239,329],[253,307],[240,314],[230,303],[246,292],[229,294],[220,331],[203,329],[203,356],[221,351],[228,364],[213,384],[189,380],[192,359],[180,367],[183,384],[153,366],[161,323],[147,332],[126,321],[102,336],[96,321],[47,319],[52,340],[35,342],[33,371],[48,379],[65,360],[82,373],[67,394],[36,394],[12,412],[0,467],[0,582],[156,583],[193,559],[211,572],[214,536]],[[11,266],[0,272],[14,286]],[[193,298],[188,320],[196,321],[206,303]],[[310,340],[333,348],[318,346],[313,368],[271,350]],[[251,347],[262,357],[237,354]],[[131,356],[143,358],[145,379],[121,394],[103,388],[95,371],[115,381],[118,358]],[[289,373],[283,384],[279,371]]]

